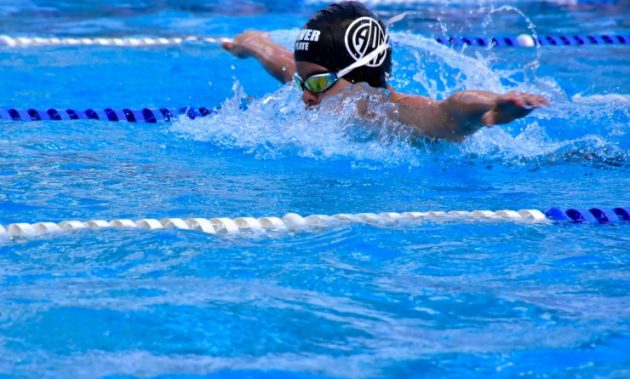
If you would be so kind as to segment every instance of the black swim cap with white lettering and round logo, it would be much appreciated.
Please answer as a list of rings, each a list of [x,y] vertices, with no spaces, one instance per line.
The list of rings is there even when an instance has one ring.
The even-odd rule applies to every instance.
[[[386,43],[386,25],[363,4],[344,1],[317,12],[295,41],[296,62],[311,62],[337,72]],[[388,47],[366,65],[344,76],[352,82],[387,87],[392,71],[392,49]]]

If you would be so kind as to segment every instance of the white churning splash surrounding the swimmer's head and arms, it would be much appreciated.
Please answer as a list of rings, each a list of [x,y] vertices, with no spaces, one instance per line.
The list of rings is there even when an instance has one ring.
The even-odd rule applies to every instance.
[[[503,9],[503,8],[500,8]],[[288,44],[296,30],[276,31],[274,39]],[[542,94],[552,105],[507,126],[484,128],[463,144],[414,141],[406,128],[378,117],[372,122],[357,118],[357,97],[332,98],[318,110],[306,110],[299,93],[283,86],[261,99],[248,99],[238,82],[234,96],[219,112],[205,119],[177,121],[172,131],[196,141],[237,149],[258,159],[299,156],[320,160],[349,160],[354,167],[418,167],[445,162],[469,161],[471,157],[505,164],[558,160],[627,166],[624,147],[628,119],[627,95],[574,96],[567,99],[550,77],[521,75],[514,69],[491,67],[493,59],[471,57],[440,45],[430,38],[393,33],[397,43],[395,88],[443,99],[454,92],[482,89],[496,93],[511,90]],[[531,66],[531,65],[530,65]],[[247,101],[247,107],[243,107]],[[374,113],[385,114],[372,104]],[[381,107],[381,108],[379,108]],[[593,127],[595,125],[595,127]],[[582,157],[582,158],[579,158]]]

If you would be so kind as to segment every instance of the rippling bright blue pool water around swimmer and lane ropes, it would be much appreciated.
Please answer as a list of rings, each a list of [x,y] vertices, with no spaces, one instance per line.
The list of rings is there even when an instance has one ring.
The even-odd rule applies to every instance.
[[[552,102],[459,145],[307,112],[296,90],[216,46],[0,47],[1,108],[222,107],[172,124],[0,122],[0,225],[627,207],[629,47],[461,50],[428,38],[628,34],[627,3],[593,3],[377,7],[416,11],[393,31],[396,88]],[[290,46],[321,4],[0,0],[0,34],[254,28]],[[425,222],[18,239],[0,245],[0,376],[628,377],[629,232]]]

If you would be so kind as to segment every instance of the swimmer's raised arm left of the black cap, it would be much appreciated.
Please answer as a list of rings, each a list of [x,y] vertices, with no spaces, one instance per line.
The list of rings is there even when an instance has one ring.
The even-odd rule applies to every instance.
[[[292,80],[295,73],[293,53],[269,39],[267,33],[247,31],[221,46],[238,58],[254,57],[281,83]]]

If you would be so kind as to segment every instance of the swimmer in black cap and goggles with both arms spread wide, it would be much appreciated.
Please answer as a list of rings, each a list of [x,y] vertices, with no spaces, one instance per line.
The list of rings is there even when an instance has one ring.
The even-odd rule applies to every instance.
[[[365,92],[388,105],[387,117],[424,138],[459,142],[483,126],[507,124],[549,104],[523,92],[462,91],[443,101],[396,92],[387,84],[392,67],[388,26],[363,4],[345,1],[310,19],[298,33],[294,52],[260,31],[246,31],[222,47],[238,58],[254,57],[281,83],[294,81],[307,109],[340,93]],[[357,101],[359,115],[376,117],[368,104]]]

